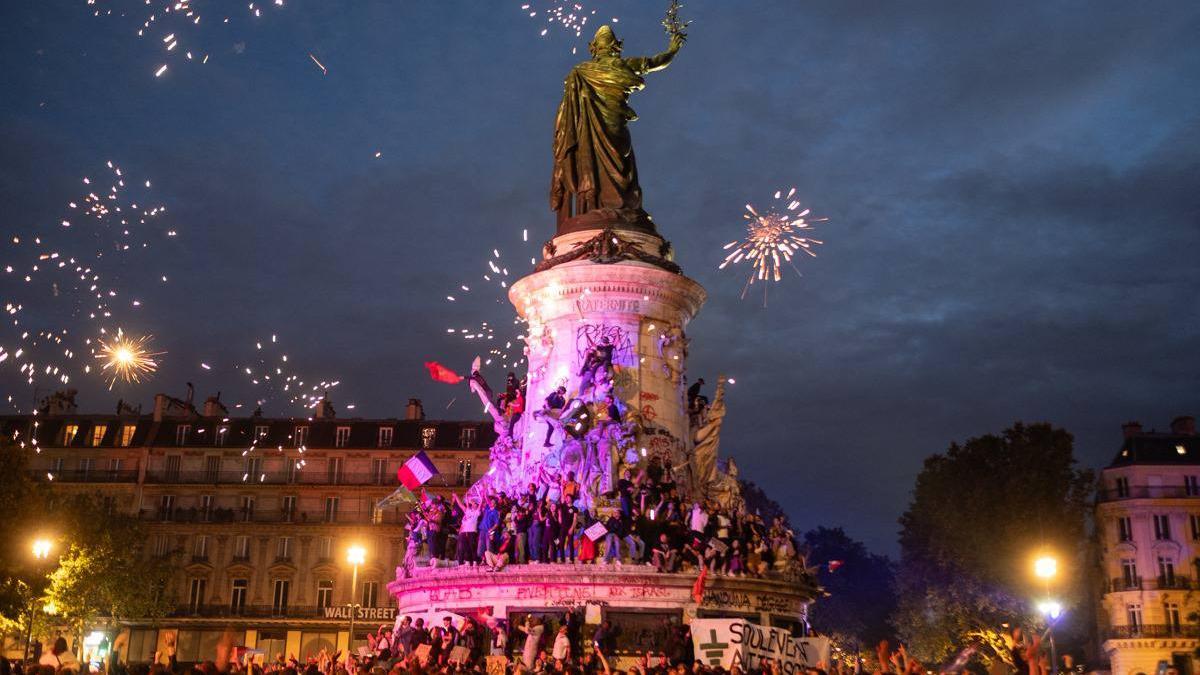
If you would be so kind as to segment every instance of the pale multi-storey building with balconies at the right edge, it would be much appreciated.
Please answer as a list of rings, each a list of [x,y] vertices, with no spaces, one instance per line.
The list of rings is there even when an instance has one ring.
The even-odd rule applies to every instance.
[[[1100,472],[1097,540],[1104,585],[1099,637],[1114,675],[1196,671],[1200,647],[1200,437],[1123,426]]]

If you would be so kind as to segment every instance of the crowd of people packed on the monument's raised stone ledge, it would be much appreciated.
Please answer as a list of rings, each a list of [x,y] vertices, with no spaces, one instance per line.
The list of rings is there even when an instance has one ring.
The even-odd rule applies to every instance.
[[[551,496],[553,495],[553,496]],[[646,565],[658,572],[708,569],[763,577],[797,563],[796,538],[782,519],[679,497],[670,465],[652,458],[616,482],[616,508],[580,506],[574,473],[557,490],[530,483],[520,495],[474,500],[422,495],[408,514],[408,554],[430,565],[499,571],[509,565]],[[601,527],[594,527],[596,524]]]

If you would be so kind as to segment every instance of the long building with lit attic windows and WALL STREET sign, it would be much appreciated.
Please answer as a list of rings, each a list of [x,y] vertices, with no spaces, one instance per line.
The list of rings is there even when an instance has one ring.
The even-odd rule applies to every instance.
[[[403,557],[406,507],[376,506],[396,471],[425,450],[439,471],[428,491],[461,491],[487,472],[494,441],[490,423],[428,420],[418,400],[391,419],[338,419],[328,401],[312,418],[234,418],[216,398],[197,410],[161,394],[151,414],[122,412],[59,401],[0,417],[0,430],[37,446],[35,479],[144,520],[150,554],[175,566],[168,619],[110,628],[133,662],[172,646],[196,661],[222,641],[271,658],[344,650],[352,603],[365,644],[396,611],[385,585]],[[354,597],[350,545],[366,549]]]

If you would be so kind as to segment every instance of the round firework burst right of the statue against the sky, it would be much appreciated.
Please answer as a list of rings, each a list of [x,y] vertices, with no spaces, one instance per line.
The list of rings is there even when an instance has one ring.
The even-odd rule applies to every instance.
[[[763,304],[766,304],[766,283],[778,282],[782,275],[786,263],[797,274],[800,273],[792,263],[797,253],[806,253],[816,257],[814,246],[823,244],[818,239],[812,239],[809,232],[814,222],[823,222],[829,219],[814,219],[809,216],[810,209],[800,210],[800,202],[794,199],[796,189],[792,187],[784,195],[775,192],[775,199],[766,214],[760,214],[751,204],[746,204],[746,213],[742,217],[746,223],[746,238],[738,241],[730,241],[725,250],[730,251],[725,261],[718,269],[725,269],[731,264],[748,262],[750,264],[750,276],[742,288],[742,297],[755,281],[763,282]]]

